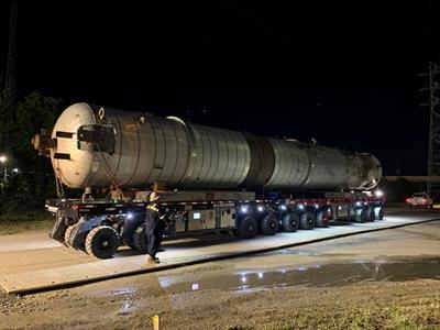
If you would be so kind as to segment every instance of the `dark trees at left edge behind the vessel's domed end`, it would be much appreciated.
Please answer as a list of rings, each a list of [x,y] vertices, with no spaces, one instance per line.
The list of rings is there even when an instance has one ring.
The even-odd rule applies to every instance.
[[[44,202],[56,196],[51,161],[38,156],[31,140],[41,129],[52,130],[62,112],[62,100],[38,91],[8,102],[8,91],[0,92],[0,219],[43,210]],[[7,177],[4,177],[7,172]]]

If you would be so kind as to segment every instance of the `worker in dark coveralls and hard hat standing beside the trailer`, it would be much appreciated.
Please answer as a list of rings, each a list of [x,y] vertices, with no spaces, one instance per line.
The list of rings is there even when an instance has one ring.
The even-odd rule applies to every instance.
[[[156,253],[161,248],[162,238],[164,234],[164,216],[161,216],[157,205],[157,199],[160,196],[156,196],[156,193],[153,191],[150,194],[150,204],[146,207],[146,217],[145,217],[145,234],[147,241],[147,262],[153,262],[158,264],[160,260],[156,257]]]

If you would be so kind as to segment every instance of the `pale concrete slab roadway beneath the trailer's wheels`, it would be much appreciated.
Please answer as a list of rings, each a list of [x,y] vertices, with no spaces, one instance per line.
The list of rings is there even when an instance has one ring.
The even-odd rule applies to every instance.
[[[118,276],[155,272],[219,258],[266,252],[362,232],[391,229],[440,219],[438,211],[400,211],[367,223],[334,223],[329,228],[279,232],[251,240],[228,235],[195,235],[166,240],[160,264],[121,248],[110,260],[97,260],[82,251],[64,246],[44,232],[0,237],[0,285],[10,294],[24,294]]]

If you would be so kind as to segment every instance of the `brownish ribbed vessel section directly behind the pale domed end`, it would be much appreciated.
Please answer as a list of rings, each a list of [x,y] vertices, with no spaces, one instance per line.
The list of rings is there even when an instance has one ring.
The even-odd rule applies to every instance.
[[[144,122],[139,120],[142,116]],[[142,187],[154,182],[175,185],[182,180],[189,147],[185,128],[179,123],[109,108],[105,120],[114,125],[117,143],[113,155],[101,155],[106,160],[101,162],[101,169],[111,174],[118,184]]]

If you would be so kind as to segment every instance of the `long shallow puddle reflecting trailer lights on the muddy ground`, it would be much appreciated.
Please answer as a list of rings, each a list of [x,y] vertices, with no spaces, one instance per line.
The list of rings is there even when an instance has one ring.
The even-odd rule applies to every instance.
[[[414,279],[439,279],[440,258],[411,262],[365,262],[346,264],[307,264],[296,268],[276,271],[240,272],[224,276],[202,278],[198,282],[179,282],[176,276],[160,277],[162,288],[167,293],[224,289],[253,290],[272,287],[344,286],[360,282],[404,282]]]

